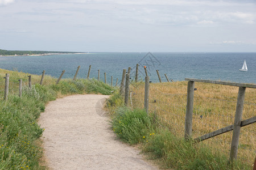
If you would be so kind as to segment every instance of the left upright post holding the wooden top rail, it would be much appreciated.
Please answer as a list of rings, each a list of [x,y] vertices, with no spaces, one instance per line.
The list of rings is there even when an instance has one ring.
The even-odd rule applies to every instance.
[[[192,136],[192,118],[193,118],[193,103],[194,103],[194,89],[195,82],[188,82],[187,90],[187,108],[185,116],[185,139],[189,139]]]

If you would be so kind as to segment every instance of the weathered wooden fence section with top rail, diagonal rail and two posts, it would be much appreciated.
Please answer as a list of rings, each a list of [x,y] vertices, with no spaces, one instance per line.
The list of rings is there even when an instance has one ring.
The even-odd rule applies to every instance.
[[[230,155],[229,155],[230,162],[233,162],[233,160],[237,158],[240,129],[242,125],[245,126],[245,125],[253,124],[255,122],[255,117],[242,121],[242,113],[243,113],[243,101],[245,99],[246,87],[256,88],[256,84],[221,82],[221,81],[200,80],[200,79],[191,79],[191,78],[185,78],[185,80],[188,80],[187,109],[186,109],[186,116],[185,116],[185,138],[186,139],[192,137],[193,96],[194,96],[195,82],[222,84],[226,86],[239,87],[234,124],[222,129],[218,129],[211,133],[205,134],[199,138],[196,138],[196,141],[203,141],[205,139],[209,139],[216,135],[233,130],[232,142],[230,146]]]

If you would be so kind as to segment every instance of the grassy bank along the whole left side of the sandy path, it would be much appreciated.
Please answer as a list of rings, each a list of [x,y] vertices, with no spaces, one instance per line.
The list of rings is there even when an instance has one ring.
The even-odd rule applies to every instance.
[[[55,79],[47,76],[45,86],[33,84],[31,88],[23,86],[22,97],[18,96],[18,79],[27,84],[27,74],[15,71],[0,70],[10,73],[11,92],[9,99],[0,98],[0,169],[46,169],[40,163],[43,156],[40,137],[43,129],[37,119],[44,111],[48,101],[58,96],[72,94],[104,94],[110,95],[114,88],[97,82],[95,79],[63,79],[55,84]],[[34,82],[40,76],[32,75]],[[16,82],[16,83],[14,83]],[[1,90],[4,89],[0,84]]]

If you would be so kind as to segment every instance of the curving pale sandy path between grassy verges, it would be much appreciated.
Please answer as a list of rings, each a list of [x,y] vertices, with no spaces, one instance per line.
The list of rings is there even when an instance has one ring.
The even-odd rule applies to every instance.
[[[73,95],[47,105],[39,124],[50,169],[157,169],[116,139],[101,109],[106,97]]]

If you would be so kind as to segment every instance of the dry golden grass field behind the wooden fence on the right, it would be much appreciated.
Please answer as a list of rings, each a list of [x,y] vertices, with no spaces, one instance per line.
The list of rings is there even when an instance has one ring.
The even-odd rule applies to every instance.
[[[234,123],[238,87],[195,82],[193,109],[193,138]],[[133,108],[143,108],[144,83],[132,83]],[[156,101],[155,101],[156,100]],[[172,133],[183,136],[187,105],[187,82],[151,83],[149,111],[155,113],[160,124]],[[246,88],[242,119],[254,117],[256,113],[256,89]],[[200,116],[203,116],[200,119]],[[232,131],[203,141],[229,156]],[[238,159],[253,164],[256,148],[256,128],[251,124],[241,128]]]

